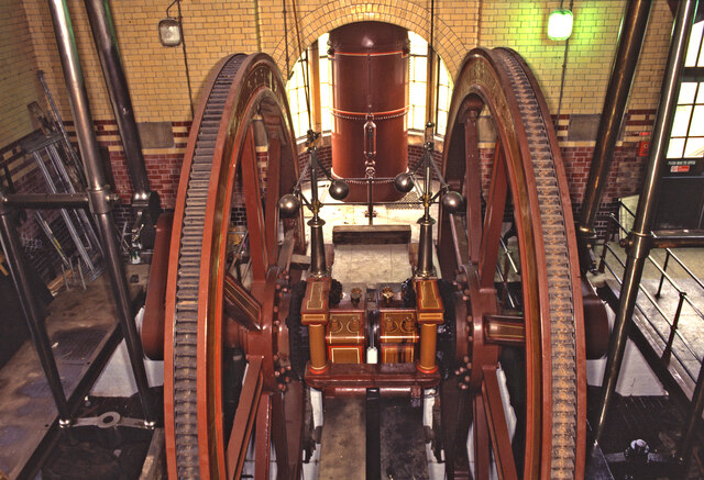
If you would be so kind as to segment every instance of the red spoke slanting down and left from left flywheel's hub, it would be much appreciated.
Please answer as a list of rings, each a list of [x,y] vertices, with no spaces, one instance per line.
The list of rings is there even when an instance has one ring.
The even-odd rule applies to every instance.
[[[228,479],[239,478],[244,466],[246,447],[252,436],[252,427],[262,393],[262,357],[248,358],[246,373],[242,382],[242,393],[232,423],[232,433],[226,449]]]

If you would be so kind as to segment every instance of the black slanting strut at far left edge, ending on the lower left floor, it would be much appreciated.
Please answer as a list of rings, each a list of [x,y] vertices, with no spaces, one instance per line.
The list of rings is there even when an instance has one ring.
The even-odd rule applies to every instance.
[[[48,388],[54,397],[54,403],[58,411],[59,425],[68,426],[72,423],[72,417],[68,412],[66,393],[64,392],[64,387],[58,376],[56,359],[52,353],[52,346],[48,341],[48,335],[46,334],[46,327],[44,326],[44,314],[42,313],[42,309],[36,304],[36,297],[32,293],[22,244],[16,236],[18,224],[15,219],[13,219],[14,213],[13,210],[6,208],[0,202],[0,241],[2,241],[6,260],[10,267],[10,274],[12,275],[20,304],[22,305],[24,319],[32,335],[32,343],[40,357]]]

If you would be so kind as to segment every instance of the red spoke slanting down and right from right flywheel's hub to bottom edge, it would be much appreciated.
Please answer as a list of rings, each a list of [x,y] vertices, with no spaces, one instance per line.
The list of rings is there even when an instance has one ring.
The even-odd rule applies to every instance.
[[[482,384],[482,399],[492,437],[492,448],[499,480],[517,480],[516,462],[510,446],[510,436],[506,425],[506,413],[502,394],[498,390],[496,368],[484,368],[484,383]]]

